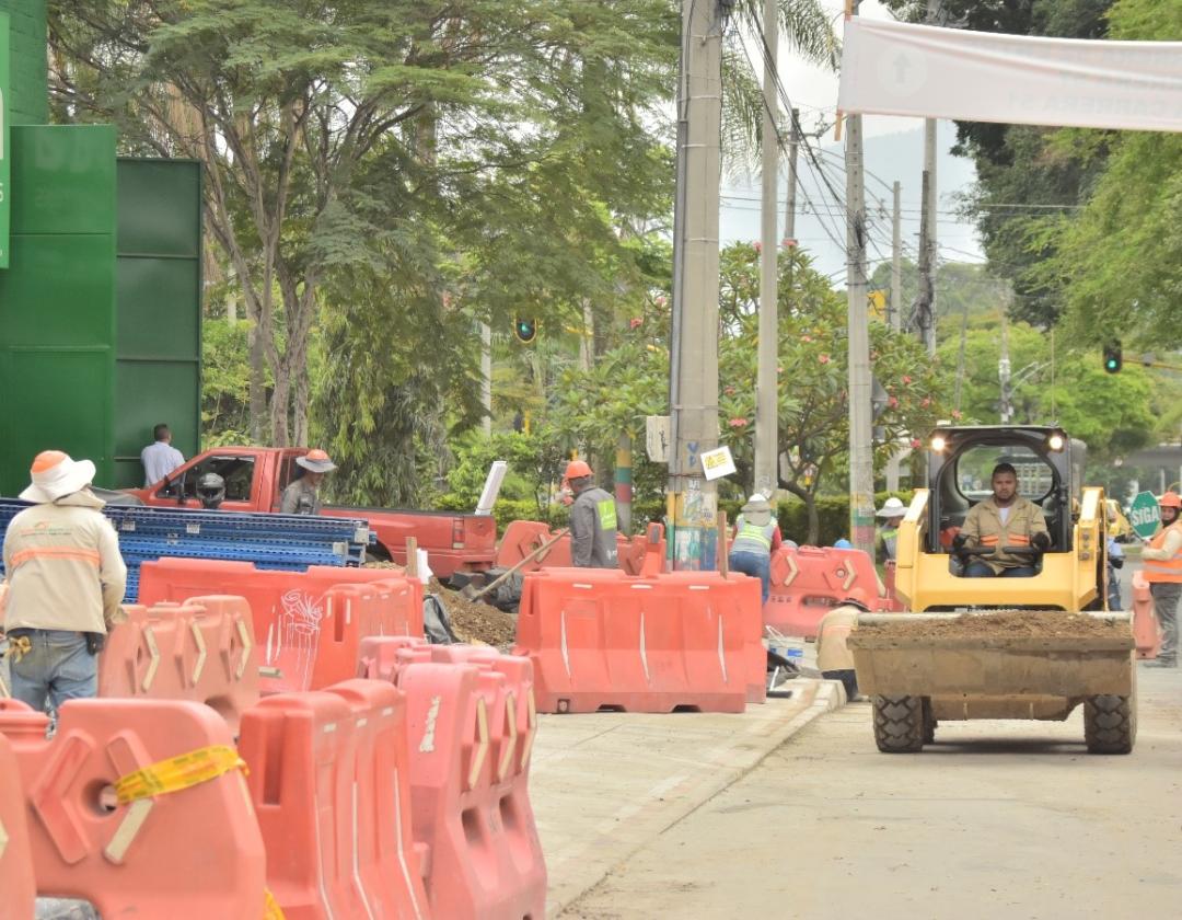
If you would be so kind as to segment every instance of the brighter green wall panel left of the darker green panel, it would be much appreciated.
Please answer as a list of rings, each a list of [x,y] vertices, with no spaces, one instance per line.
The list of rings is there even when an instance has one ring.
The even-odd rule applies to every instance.
[[[0,271],[0,493],[60,448],[115,473],[115,131],[14,127],[12,261]],[[72,190],[72,192],[71,192]]]

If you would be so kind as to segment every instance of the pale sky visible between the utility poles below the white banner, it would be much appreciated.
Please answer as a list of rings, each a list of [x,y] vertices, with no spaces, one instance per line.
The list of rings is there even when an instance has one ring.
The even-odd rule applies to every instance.
[[[838,30],[842,25],[843,0],[823,0],[833,15]],[[868,0],[862,5],[862,14],[875,19],[888,19],[889,13],[878,4]],[[752,53],[754,58],[754,52]],[[795,237],[799,244],[812,253],[817,266],[830,276],[837,285],[845,283],[845,226],[833,192],[845,195],[845,170],[842,144],[833,138],[833,117],[837,109],[838,76],[800,60],[786,47],[781,39],[779,71],[785,91],[793,105],[800,110],[800,122],[805,131],[820,125],[830,125],[819,138],[817,163],[825,173],[825,180],[816,167],[801,154],[800,188],[798,193],[798,216]],[[758,71],[762,79],[762,69]],[[894,118],[865,116],[863,118],[864,161],[866,168],[866,208],[871,225],[872,244],[869,250],[870,268],[889,260],[891,250],[891,183],[902,186],[902,241],[904,257],[916,258],[920,235],[921,176],[923,170],[923,122],[918,118]],[[937,125],[936,184],[940,194],[937,216],[937,245],[944,261],[983,261],[978,234],[972,222],[956,213],[957,195],[969,189],[976,180],[970,160],[954,157],[949,153],[956,138],[952,122]],[[814,147],[816,149],[816,147]],[[780,177],[778,200],[782,212],[787,190],[787,166]],[[832,190],[831,190],[832,189]],[[755,240],[760,232],[758,177],[725,176],[722,181],[723,245],[736,240]],[[780,218],[782,235],[784,218]]]

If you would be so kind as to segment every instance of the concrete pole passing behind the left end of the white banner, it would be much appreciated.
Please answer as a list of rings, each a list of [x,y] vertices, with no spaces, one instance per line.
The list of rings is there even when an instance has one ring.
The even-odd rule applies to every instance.
[[[850,15],[860,0],[846,0]],[[850,324],[850,542],[875,551],[875,467],[870,409],[870,311],[866,305],[866,201],[862,163],[862,116],[845,119],[845,241]]]

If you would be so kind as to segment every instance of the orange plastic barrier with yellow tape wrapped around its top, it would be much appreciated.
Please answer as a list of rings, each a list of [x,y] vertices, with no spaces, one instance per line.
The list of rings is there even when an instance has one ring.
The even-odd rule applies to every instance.
[[[71,700],[52,741],[47,726],[19,702],[0,707],[41,894],[85,899],[105,918],[262,916],[262,837],[239,770],[128,804],[113,793],[137,770],[232,746],[217,713],[178,700]]]

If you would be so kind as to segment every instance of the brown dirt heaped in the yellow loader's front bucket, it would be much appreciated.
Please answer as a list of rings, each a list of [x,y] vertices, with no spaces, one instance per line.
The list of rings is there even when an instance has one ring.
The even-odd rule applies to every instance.
[[[888,624],[865,623],[858,627],[864,636],[891,639],[949,639],[949,637],[1030,637],[1030,639],[1090,639],[1129,634],[1129,623],[1099,620],[1086,614],[1064,614],[1057,610],[1002,610],[991,614],[962,614],[952,620],[924,620],[905,614]]]

